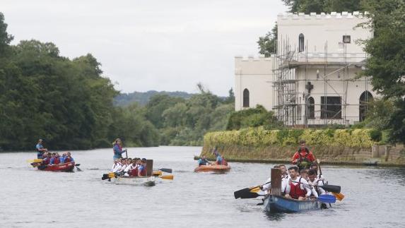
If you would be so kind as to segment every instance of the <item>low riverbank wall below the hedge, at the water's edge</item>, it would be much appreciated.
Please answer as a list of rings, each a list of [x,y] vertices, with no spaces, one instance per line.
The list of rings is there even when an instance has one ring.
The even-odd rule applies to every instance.
[[[212,146],[204,145],[201,155],[215,160]],[[290,163],[297,148],[271,145],[268,147],[246,147],[220,145],[217,150],[229,162]],[[371,148],[342,148],[332,146],[310,147],[322,164],[334,165],[378,165],[384,167],[405,167],[404,145],[389,147],[373,145]],[[197,157],[195,157],[196,159]]]

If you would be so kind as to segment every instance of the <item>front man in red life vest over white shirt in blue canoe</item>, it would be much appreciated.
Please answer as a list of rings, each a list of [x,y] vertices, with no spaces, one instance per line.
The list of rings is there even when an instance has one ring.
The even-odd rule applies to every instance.
[[[312,191],[309,188],[308,181],[302,177],[298,177],[298,167],[290,167],[288,168],[288,172],[290,173],[290,179],[288,180],[290,191],[286,191],[285,197],[305,200],[311,196]]]

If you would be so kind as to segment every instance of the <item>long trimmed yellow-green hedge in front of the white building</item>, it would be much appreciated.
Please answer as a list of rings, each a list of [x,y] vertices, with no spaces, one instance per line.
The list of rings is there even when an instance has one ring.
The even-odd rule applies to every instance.
[[[264,128],[244,128],[239,131],[216,131],[206,133],[204,146],[243,145],[298,145],[299,140],[307,145],[344,146],[351,148],[370,148],[381,139],[380,131],[374,129],[298,129],[264,130]]]

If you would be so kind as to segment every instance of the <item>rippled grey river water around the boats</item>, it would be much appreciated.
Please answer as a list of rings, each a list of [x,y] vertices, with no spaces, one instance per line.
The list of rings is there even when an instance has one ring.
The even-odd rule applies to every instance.
[[[102,181],[112,149],[73,151],[83,172],[42,172],[34,152],[0,153],[0,227],[405,227],[405,169],[322,167],[343,201],[327,210],[268,214],[233,192],[263,184],[274,164],[232,162],[228,174],[194,173],[200,147],[129,148],[175,179],[153,187]]]

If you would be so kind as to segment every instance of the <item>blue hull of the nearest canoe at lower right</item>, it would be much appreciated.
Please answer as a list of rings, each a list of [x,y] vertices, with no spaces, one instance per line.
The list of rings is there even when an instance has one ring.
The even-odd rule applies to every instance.
[[[321,203],[318,200],[295,200],[275,195],[264,198],[264,210],[267,212],[301,212],[319,208]]]

